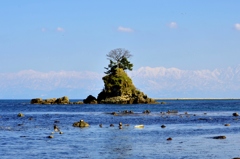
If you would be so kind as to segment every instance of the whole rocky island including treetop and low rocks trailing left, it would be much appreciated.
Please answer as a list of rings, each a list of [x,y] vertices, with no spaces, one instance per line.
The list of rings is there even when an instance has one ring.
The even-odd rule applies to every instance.
[[[118,48],[111,50],[107,54],[110,60],[105,76],[102,78],[104,82],[103,90],[98,94],[97,98],[89,95],[83,100],[84,104],[155,104],[156,101],[149,98],[146,94],[138,90],[131,78],[127,75],[126,70],[132,70],[133,64],[128,61],[132,55],[128,50]],[[31,100],[31,104],[69,104],[68,97],[51,98],[42,100],[35,98]],[[73,104],[82,104],[73,103]]]

